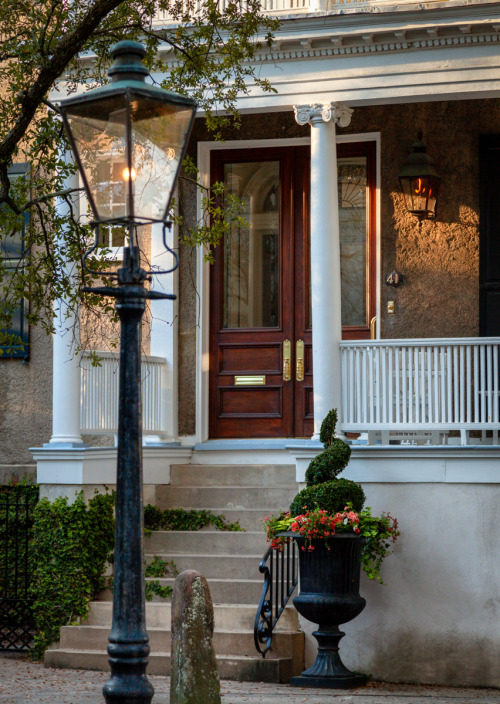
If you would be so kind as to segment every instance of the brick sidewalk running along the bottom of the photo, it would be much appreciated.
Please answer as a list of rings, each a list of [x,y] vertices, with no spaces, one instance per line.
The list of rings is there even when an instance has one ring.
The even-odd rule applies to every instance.
[[[0,704],[104,704],[108,674],[55,670],[0,654]],[[151,676],[153,704],[168,704],[169,678]],[[500,704],[500,690],[371,683],[350,691],[296,689],[287,685],[228,682],[223,704]]]

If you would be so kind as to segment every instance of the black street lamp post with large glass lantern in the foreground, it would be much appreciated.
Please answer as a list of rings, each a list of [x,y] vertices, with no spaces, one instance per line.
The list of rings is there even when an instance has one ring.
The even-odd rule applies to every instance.
[[[149,704],[154,693],[146,677],[140,324],[147,299],[175,296],[145,288],[153,272],[141,268],[137,231],[163,223],[163,241],[172,251],[166,219],[196,111],[193,100],[145,82],[145,53],[137,42],[119,42],[111,50],[112,82],[61,104],[94,216],[90,252],[100,228],[123,228],[128,236],[123,266],[99,272],[115,285],[86,289],[116,298],[121,323],[111,677],[103,690],[108,704]],[[177,266],[172,254],[170,271]]]

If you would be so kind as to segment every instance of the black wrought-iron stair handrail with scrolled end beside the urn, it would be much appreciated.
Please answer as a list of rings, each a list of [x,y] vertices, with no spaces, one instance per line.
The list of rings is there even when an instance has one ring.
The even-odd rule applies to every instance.
[[[255,616],[253,638],[257,652],[263,658],[271,648],[273,630],[299,581],[297,559],[296,544],[292,540],[285,543],[283,551],[270,547],[259,564],[259,572],[264,575],[264,585]]]

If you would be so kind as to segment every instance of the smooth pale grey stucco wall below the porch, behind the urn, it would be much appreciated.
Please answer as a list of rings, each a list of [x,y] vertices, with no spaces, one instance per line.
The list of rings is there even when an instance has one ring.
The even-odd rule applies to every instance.
[[[341,626],[347,667],[389,682],[500,687],[500,486],[364,489],[375,513],[399,519],[401,536],[383,564],[384,585],[362,574],[366,608]],[[307,642],[310,663],[315,641]]]

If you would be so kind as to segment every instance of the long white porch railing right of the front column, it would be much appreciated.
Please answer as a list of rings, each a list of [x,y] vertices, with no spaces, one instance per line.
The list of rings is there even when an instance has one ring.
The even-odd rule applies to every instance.
[[[500,428],[500,338],[340,346],[344,431]]]

